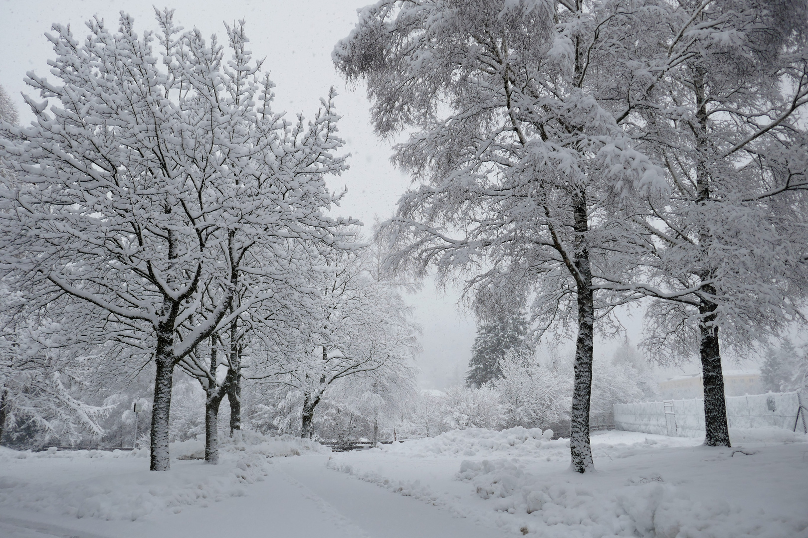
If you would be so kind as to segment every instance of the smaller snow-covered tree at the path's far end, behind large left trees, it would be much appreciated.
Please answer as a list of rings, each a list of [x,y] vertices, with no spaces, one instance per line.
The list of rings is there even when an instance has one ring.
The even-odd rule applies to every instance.
[[[419,327],[398,286],[374,270],[372,251],[335,252],[329,270],[312,282],[320,296],[274,357],[274,382],[302,394],[301,435],[314,435],[314,410],[330,387],[347,377],[402,372],[419,352]]]

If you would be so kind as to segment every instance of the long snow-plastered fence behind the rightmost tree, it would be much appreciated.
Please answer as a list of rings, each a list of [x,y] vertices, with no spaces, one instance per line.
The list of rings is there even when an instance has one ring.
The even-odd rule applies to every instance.
[[[666,402],[618,403],[614,406],[614,424],[628,432],[670,435],[665,416]],[[667,402],[670,412],[670,402]],[[781,427],[806,432],[800,406],[808,407],[808,394],[797,392],[753,394],[726,398],[726,418],[730,427]],[[797,415],[799,413],[799,415]],[[675,435],[699,437],[705,434],[704,400],[673,400]],[[671,432],[672,433],[672,432]]]

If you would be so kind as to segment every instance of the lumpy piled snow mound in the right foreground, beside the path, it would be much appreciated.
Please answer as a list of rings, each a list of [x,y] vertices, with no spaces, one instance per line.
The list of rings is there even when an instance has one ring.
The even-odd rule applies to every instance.
[[[599,489],[558,478],[543,481],[519,461],[502,459],[463,461],[456,478],[470,482],[494,511],[522,515],[500,524],[543,538],[776,538],[797,536],[808,527],[804,520],[750,516],[723,501],[693,501],[656,474]]]

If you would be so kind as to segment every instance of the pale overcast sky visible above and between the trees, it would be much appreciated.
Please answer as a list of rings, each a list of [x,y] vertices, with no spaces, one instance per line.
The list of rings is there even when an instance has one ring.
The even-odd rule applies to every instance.
[[[250,49],[255,58],[266,57],[264,69],[276,82],[276,109],[290,114],[311,115],[334,85],[339,91],[337,111],[343,115],[340,133],[351,153],[351,169],[332,177],[333,189],[347,187],[343,205],[335,212],[351,215],[366,225],[374,215],[393,215],[398,197],[410,185],[406,175],[389,164],[389,143],[381,142],[369,124],[364,88],[351,91],[335,72],[330,53],[337,40],[356,23],[356,9],[369,0],[172,0],[175,20],[183,27],[198,27],[204,35],[224,34],[223,22],[246,19]],[[0,84],[15,100],[20,119],[27,123],[27,111],[20,92],[27,91],[23,77],[27,71],[48,73],[47,60],[53,50],[45,39],[54,22],[69,24],[77,37],[86,35],[84,22],[97,15],[116,28],[119,12],[135,18],[138,33],[154,29],[150,1],[139,0],[0,0]],[[158,7],[162,8],[162,4]],[[34,96],[39,98],[38,95]],[[423,326],[423,354],[420,383],[424,388],[442,389],[461,382],[470,357],[475,330],[473,316],[457,307],[457,292],[439,293],[431,282],[408,300],[415,305],[416,321]],[[640,319],[626,318],[629,339],[638,342]],[[600,341],[595,357],[610,357],[617,343]],[[696,365],[687,368],[696,372]]]

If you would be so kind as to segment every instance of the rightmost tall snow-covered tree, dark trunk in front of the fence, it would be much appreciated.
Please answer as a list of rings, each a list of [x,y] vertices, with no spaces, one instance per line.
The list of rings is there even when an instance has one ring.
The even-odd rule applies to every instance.
[[[654,298],[654,355],[701,358],[709,445],[730,444],[721,346],[801,318],[806,26],[793,2],[663,2],[633,34],[627,76],[606,90],[665,165],[671,196],[649,197],[634,219],[649,245],[634,289]]]

